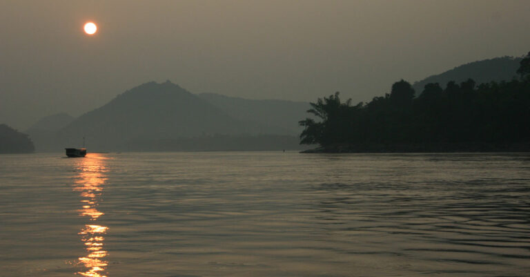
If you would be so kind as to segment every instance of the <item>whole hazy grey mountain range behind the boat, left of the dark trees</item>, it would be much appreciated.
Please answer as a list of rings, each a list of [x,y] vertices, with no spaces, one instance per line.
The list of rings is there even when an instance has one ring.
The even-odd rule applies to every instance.
[[[286,146],[292,148],[292,142],[297,142],[294,125],[304,117],[306,109],[302,106],[308,108],[308,104],[299,102],[246,100],[213,94],[198,96],[171,82],[149,82],[127,90],[75,120],[64,114],[45,117],[28,129],[28,133],[39,141],[38,151],[79,147],[82,137],[86,137],[91,149],[98,151],[160,149],[156,145],[169,143],[193,146],[189,142],[191,138],[201,138],[197,142],[204,143],[210,138],[208,145],[211,145],[212,140],[230,137],[238,140],[246,137],[252,141],[248,142],[249,147],[253,145],[246,150],[260,150],[257,142],[264,142],[264,135],[282,137],[276,137],[277,140],[292,137],[285,139]],[[186,150],[178,145],[166,146]],[[222,145],[219,149],[206,145],[188,149],[223,150]],[[277,145],[277,149],[282,149],[282,145]]]

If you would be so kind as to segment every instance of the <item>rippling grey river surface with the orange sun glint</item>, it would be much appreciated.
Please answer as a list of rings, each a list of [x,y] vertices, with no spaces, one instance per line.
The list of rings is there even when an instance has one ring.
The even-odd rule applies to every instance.
[[[530,276],[528,153],[62,156],[0,155],[0,276]]]

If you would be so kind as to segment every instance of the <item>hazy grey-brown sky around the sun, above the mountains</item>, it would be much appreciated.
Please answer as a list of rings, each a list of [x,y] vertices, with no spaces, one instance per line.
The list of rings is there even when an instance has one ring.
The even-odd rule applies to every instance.
[[[526,54],[529,15],[525,0],[1,0],[0,123],[77,116],[166,79],[192,93],[369,101],[402,78]]]

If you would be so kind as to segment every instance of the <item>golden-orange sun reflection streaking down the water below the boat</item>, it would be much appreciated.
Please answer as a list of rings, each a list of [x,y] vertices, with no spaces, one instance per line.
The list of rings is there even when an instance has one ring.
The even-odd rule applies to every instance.
[[[86,256],[79,257],[78,263],[86,269],[77,272],[77,274],[89,277],[107,277],[105,274],[108,261],[104,258],[108,253],[104,249],[104,235],[108,227],[95,224],[95,221],[105,214],[97,209],[107,180],[104,157],[90,153],[81,158],[80,161],[77,168],[79,170],[78,180],[75,182],[73,190],[79,192],[83,198],[79,216],[87,217],[90,224],[86,224],[79,231],[87,253]]]

